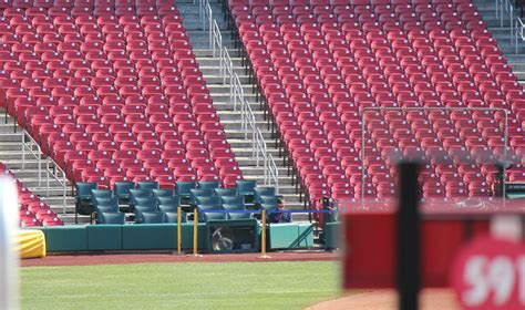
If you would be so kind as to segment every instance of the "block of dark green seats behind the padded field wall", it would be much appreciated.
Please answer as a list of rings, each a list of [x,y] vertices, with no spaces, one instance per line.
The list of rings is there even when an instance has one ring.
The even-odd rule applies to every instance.
[[[96,183],[76,184],[76,207],[93,214],[99,224],[124,224],[126,213],[136,224],[178,223],[177,210],[198,209],[199,221],[209,219],[249,219],[248,209],[276,209],[274,187],[259,187],[254,180],[237,180],[235,188],[218,182],[177,182],[175,189],[161,189],[156,182],[116,182],[114,190],[99,189]],[[181,221],[187,219],[183,214]]]

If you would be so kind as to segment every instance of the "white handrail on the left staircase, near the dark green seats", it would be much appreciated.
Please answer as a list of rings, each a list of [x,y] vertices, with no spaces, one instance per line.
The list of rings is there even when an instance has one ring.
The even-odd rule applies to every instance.
[[[22,133],[22,169],[25,168],[25,151],[29,151],[30,154],[38,161],[38,174],[39,174],[39,188],[42,186],[42,149],[40,148],[39,144],[34,141],[34,138],[27,132],[23,131]],[[55,179],[62,189],[62,198],[63,198],[63,213],[65,214],[65,204],[66,204],[66,186],[68,186],[68,177],[65,176],[64,170],[56,165],[56,163],[51,159],[50,157],[45,158],[45,195],[49,197],[50,186],[49,180],[50,177]]]

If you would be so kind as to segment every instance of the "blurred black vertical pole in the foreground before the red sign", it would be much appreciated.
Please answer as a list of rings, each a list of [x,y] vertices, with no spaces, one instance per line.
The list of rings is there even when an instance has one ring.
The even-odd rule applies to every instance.
[[[398,294],[400,310],[416,310],[420,290],[419,164],[399,165]]]

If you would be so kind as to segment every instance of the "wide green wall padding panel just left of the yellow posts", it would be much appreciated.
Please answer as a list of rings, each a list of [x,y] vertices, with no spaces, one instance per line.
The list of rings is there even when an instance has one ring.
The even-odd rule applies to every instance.
[[[177,226],[173,224],[141,224],[122,227],[122,249],[153,250],[177,247]]]

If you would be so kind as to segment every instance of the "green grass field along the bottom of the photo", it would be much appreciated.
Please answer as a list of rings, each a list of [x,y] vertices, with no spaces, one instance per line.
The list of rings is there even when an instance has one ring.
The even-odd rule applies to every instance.
[[[339,265],[174,262],[22,268],[22,309],[301,309],[339,293]]]

